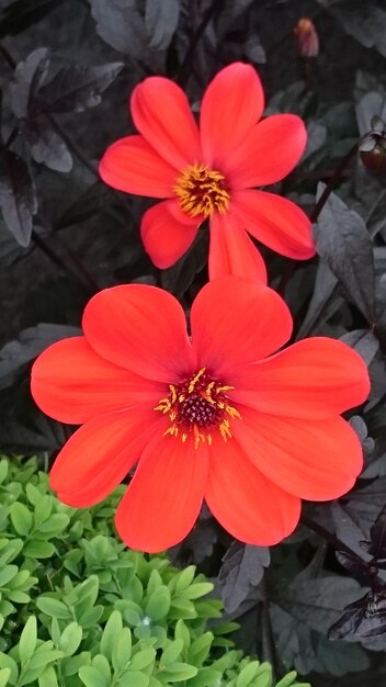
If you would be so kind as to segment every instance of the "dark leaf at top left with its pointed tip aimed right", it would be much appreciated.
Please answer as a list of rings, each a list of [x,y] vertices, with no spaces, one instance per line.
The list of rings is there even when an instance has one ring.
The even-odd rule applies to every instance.
[[[72,65],[60,69],[41,89],[42,109],[46,112],[83,112],[88,108],[95,108],[122,67],[123,63],[109,63],[100,67]]]

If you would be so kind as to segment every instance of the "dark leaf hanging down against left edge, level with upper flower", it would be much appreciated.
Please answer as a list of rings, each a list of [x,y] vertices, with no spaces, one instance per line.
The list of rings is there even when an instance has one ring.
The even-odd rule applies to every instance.
[[[27,246],[36,212],[34,185],[24,160],[11,150],[0,154],[0,206],[18,244]]]

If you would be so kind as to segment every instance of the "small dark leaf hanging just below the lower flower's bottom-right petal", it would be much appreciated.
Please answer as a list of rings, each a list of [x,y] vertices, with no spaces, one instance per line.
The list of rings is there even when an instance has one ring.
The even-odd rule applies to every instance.
[[[234,541],[223,559],[218,584],[225,609],[232,613],[260,583],[270,564],[266,547],[252,547]]]

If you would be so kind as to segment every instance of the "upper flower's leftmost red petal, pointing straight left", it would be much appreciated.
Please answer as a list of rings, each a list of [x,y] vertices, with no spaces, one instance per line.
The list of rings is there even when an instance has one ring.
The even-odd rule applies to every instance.
[[[103,155],[99,172],[109,185],[126,193],[171,198],[178,172],[156,153],[143,136],[127,136],[113,143]]]

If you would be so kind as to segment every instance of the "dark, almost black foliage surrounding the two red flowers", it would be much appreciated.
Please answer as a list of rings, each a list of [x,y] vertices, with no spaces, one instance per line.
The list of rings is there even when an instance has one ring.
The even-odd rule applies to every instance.
[[[305,15],[320,37],[314,59],[293,33]],[[197,110],[213,75],[240,59],[262,78],[266,113],[307,123],[306,154],[275,190],[316,221],[319,257],[264,257],[295,338],[342,338],[370,367],[371,397],[347,416],[365,469],[339,502],[305,505],[296,532],[270,551],[231,541],[204,509],[171,555],[216,581],[240,646],[315,687],[386,679],[386,146],[373,120],[386,120],[385,58],[383,0],[0,0],[3,450],[55,457],[72,431],[34,407],[29,370],[78,333],[90,295],[136,281],[189,308],[206,280],[205,233],[160,272],[139,240],[145,201],[98,177],[105,147],[133,132],[133,87],[166,75]]]

